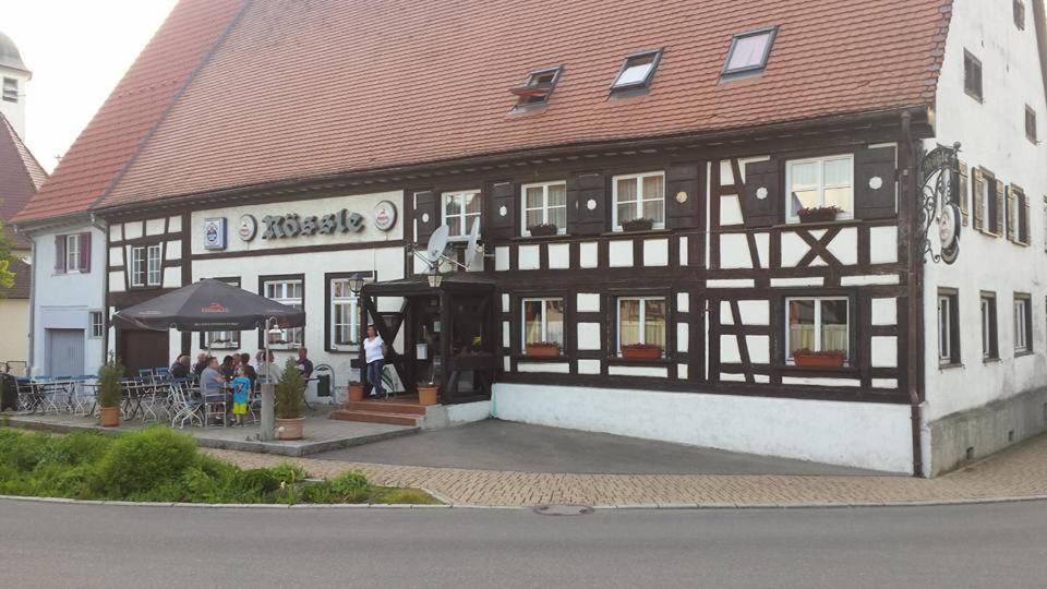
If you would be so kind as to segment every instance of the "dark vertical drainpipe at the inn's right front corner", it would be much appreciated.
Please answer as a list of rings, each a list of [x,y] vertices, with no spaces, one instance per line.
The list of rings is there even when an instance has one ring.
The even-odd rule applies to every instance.
[[[913,477],[922,478],[924,476],[923,445],[920,441],[920,425],[923,417],[919,399],[919,376],[920,362],[923,353],[920,350],[924,344],[923,338],[923,243],[918,243],[919,209],[920,197],[916,183],[916,154],[913,144],[912,134],[913,116],[910,112],[902,113],[902,142],[900,148],[900,160],[903,163],[902,175],[902,199],[899,200],[900,230],[908,233],[903,236],[903,243],[908,249],[908,321],[906,326],[906,339],[908,342],[908,359],[906,366],[906,383],[908,388],[910,419],[912,421],[913,437]]]

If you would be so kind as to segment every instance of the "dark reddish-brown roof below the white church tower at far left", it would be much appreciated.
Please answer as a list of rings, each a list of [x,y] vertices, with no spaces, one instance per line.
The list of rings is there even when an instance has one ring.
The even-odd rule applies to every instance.
[[[47,172],[29,153],[8,118],[0,113],[0,221],[4,224],[4,232],[15,239],[19,248],[27,249],[29,242],[22,236],[15,236],[7,223],[22,211],[46,179]]]

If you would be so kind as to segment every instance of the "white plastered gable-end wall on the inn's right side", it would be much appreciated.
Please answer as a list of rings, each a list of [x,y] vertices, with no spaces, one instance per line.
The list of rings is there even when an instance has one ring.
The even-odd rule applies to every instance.
[[[1014,25],[1011,2],[955,0],[937,95],[938,143],[962,143],[961,160],[991,170],[1004,183],[1022,187],[1030,200],[1030,247],[1006,237],[992,238],[963,228],[954,265],[925,264],[926,334],[925,421],[982,407],[1030,388],[1047,386],[1047,254],[1044,252],[1044,195],[1047,194],[1047,148],[1025,137],[1025,106],[1036,110],[1038,136],[1047,139],[1047,100],[1040,75],[1032,5],[1025,2],[1026,26]],[[984,103],[964,92],[964,50],[982,61]],[[970,190],[970,188],[968,188]],[[931,238],[935,238],[932,229]],[[937,247],[936,247],[937,248]],[[959,289],[963,365],[939,369],[937,293]],[[984,363],[979,292],[995,291],[1000,361]],[[1014,357],[1014,292],[1032,296],[1033,356]]]

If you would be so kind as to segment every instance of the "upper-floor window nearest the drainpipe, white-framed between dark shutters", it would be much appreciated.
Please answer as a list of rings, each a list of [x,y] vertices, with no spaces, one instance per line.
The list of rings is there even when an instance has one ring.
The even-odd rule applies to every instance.
[[[789,223],[799,221],[804,208],[834,206],[838,219],[854,218],[854,156],[794,159],[785,165]]]

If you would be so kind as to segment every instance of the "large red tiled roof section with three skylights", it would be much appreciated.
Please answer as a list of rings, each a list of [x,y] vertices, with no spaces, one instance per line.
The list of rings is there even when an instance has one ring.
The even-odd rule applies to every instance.
[[[597,141],[932,105],[951,0],[255,0],[99,206]],[[735,33],[767,71],[719,83]],[[607,100],[664,47],[650,94]],[[512,116],[563,64],[547,110]]]

